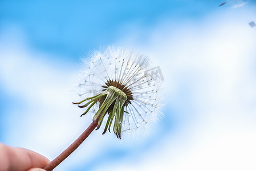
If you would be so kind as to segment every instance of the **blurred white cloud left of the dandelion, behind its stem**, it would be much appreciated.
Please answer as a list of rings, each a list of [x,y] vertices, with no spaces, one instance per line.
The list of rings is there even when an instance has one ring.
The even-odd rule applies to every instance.
[[[12,37],[14,34],[17,36]],[[1,113],[6,123],[3,136],[8,145],[34,150],[52,160],[88,127],[92,118],[81,118],[82,109],[71,104],[80,100],[75,89],[79,84],[78,68],[61,58],[48,60],[51,54],[32,50],[21,34],[15,30],[1,35],[0,81],[6,94],[14,98],[9,101],[13,107]],[[93,133],[86,145],[55,170],[66,170],[99,155],[104,148],[101,139],[113,140],[108,137]],[[98,148],[92,148],[95,146]]]

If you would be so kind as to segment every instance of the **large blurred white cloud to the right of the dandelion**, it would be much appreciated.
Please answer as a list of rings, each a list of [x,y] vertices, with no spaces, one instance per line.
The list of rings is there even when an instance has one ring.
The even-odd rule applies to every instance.
[[[128,39],[161,66],[168,105],[186,112],[159,148],[108,170],[256,169],[256,30],[247,23],[255,13],[246,10],[157,26],[144,45]]]

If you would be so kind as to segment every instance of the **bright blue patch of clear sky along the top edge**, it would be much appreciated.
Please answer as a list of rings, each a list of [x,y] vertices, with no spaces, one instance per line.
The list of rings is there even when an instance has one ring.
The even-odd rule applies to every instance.
[[[19,27],[32,46],[71,58],[162,18],[201,18],[218,1],[1,1],[2,29]]]

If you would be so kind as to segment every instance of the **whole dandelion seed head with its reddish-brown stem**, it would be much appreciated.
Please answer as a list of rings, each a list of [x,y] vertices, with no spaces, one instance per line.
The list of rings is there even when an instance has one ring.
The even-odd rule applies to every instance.
[[[147,56],[120,47],[94,51],[91,62],[82,71],[79,84],[81,101],[74,103],[93,113],[92,124],[55,161],[44,168],[52,170],[70,155],[96,128],[104,125],[103,135],[111,132],[121,139],[123,132],[144,127],[159,117],[159,87],[163,80],[160,69],[149,63]]]

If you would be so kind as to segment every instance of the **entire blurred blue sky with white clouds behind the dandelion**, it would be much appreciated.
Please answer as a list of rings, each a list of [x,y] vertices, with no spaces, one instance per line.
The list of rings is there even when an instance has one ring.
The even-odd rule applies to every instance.
[[[256,3],[0,1],[0,141],[53,160],[80,118],[82,56],[108,45],[149,55],[164,117],[145,135],[94,131],[55,170],[256,170]]]

